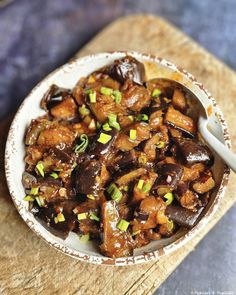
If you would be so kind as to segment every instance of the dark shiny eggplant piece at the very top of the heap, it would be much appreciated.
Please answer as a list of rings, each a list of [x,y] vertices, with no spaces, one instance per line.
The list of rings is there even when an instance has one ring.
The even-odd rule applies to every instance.
[[[145,81],[144,65],[131,56],[116,60],[114,64],[108,67],[107,73],[122,84],[126,80],[131,80],[143,85]]]

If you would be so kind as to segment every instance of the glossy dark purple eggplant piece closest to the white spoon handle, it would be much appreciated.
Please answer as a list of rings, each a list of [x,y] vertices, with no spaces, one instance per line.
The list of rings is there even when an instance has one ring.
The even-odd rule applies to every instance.
[[[213,155],[206,145],[190,138],[178,138],[176,142],[185,164],[204,163],[210,166],[213,164]]]

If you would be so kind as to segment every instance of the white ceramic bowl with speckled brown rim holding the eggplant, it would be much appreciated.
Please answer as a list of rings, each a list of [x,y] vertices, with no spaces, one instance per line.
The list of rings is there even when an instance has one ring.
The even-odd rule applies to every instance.
[[[130,265],[143,263],[160,258],[183,246],[188,240],[192,239],[202,227],[206,226],[209,218],[215,213],[220,198],[224,194],[229,177],[229,169],[222,160],[215,155],[213,174],[216,179],[217,187],[197,225],[191,230],[181,229],[171,238],[154,241],[136,250],[132,257],[116,259],[105,257],[98,252],[93,242],[88,242],[86,244],[81,243],[75,233],[70,233],[66,240],[62,240],[50,233],[35,219],[34,215],[28,211],[28,203],[23,200],[25,192],[21,183],[22,173],[25,168],[24,135],[30,121],[44,114],[44,111],[40,109],[39,106],[43,94],[48,90],[50,85],[54,83],[65,88],[72,88],[79,78],[87,76],[91,72],[112,63],[115,59],[124,57],[126,54],[144,63],[147,79],[165,77],[187,86],[202,101],[206,110],[208,110],[209,127],[211,131],[218,139],[230,147],[228,129],[215,100],[191,74],[165,59],[137,52],[100,53],[73,60],[48,75],[26,97],[11,124],[5,153],[6,178],[9,191],[21,217],[38,236],[44,239],[49,245],[65,254],[82,261],[96,264]]]

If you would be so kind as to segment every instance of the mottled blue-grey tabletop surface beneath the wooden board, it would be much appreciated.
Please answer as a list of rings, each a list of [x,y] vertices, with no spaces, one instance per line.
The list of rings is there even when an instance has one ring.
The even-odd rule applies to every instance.
[[[104,25],[141,12],[166,17],[236,69],[235,0],[15,0],[0,9],[0,118]],[[157,294],[236,294],[235,216],[236,207]]]

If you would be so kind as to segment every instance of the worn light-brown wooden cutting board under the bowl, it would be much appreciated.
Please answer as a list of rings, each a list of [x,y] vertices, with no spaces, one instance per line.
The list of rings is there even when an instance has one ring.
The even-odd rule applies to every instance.
[[[111,50],[152,53],[181,65],[216,98],[236,143],[236,73],[161,18],[147,15],[118,19],[77,56]],[[22,221],[9,196],[3,154],[10,119],[0,125],[0,293],[1,294],[152,294],[236,200],[231,175],[220,208],[194,240],[159,261],[129,267],[79,262],[40,240]]]

